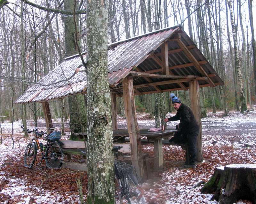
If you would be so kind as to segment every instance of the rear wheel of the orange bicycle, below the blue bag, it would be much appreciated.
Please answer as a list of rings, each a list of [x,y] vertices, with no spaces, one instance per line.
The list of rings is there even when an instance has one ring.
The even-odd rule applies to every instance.
[[[60,143],[52,142],[45,150],[46,166],[52,169],[59,169],[64,158],[63,150]]]

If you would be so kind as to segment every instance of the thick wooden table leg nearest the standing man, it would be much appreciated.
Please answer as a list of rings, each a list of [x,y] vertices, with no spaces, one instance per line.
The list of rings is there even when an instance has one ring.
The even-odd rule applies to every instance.
[[[155,170],[163,169],[163,142],[162,138],[154,140],[154,168]]]

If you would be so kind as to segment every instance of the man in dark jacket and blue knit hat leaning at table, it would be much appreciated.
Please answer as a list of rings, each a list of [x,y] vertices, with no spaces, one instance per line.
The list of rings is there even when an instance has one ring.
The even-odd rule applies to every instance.
[[[172,104],[177,113],[171,118],[164,119],[164,121],[180,120],[180,123],[176,125],[176,129],[181,131],[175,134],[169,141],[176,143],[188,143],[190,158],[189,164],[185,165],[184,168],[196,168],[196,138],[199,133],[199,125],[192,110],[188,106],[182,104],[180,99],[173,93],[170,94],[170,97],[172,98]]]

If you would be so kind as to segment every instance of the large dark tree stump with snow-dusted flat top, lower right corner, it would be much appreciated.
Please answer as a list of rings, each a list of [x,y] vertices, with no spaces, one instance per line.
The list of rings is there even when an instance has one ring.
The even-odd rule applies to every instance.
[[[220,204],[236,203],[239,199],[251,200],[256,204],[256,164],[225,166],[211,200],[214,199]]]

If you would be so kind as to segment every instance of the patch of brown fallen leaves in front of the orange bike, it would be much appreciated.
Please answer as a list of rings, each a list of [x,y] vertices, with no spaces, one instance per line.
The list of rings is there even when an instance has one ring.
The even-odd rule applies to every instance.
[[[38,157],[35,164],[39,164],[40,159],[41,158]],[[23,157],[21,157],[19,161],[13,161],[12,157],[7,160],[9,160],[9,164],[5,162],[7,165],[2,166],[1,169],[7,179],[2,180],[0,183],[0,191],[8,185],[8,178],[26,178],[28,190],[33,191],[36,195],[39,195],[40,192],[36,189],[31,189],[29,187],[30,185],[34,185],[38,188],[41,186],[48,190],[54,189],[55,193],[63,194],[63,198],[65,198],[67,193],[77,193],[76,178],[82,177],[83,193],[87,193],[88,181],[85,172],[72,171],[69,169],[48,169],[44,161],[40,166],[37,165],[33,166],[32,169],[28,169],[23,164]]]

